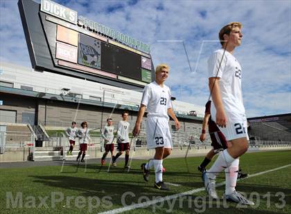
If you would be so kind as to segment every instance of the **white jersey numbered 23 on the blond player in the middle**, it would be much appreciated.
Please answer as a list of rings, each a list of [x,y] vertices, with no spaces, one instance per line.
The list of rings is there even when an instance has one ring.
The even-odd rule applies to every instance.
[[[168,86],[161,87],[156,81],[152,81],[143,89],[141,104],[146,106],[148,117],[165,117],[169,119],[168,108],[172,108],[170,97],[170,88]]]

